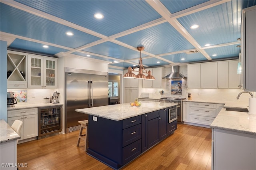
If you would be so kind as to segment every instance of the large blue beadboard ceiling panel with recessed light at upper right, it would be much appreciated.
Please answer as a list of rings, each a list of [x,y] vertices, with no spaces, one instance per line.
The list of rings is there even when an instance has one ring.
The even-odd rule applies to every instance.
[[[189,34],[203,47],[205,44],[216,45],[236,42],[240,38],[242,1],[230,1],[188,16],[178,21]],[[197,29],[190,26],[198,24]]]

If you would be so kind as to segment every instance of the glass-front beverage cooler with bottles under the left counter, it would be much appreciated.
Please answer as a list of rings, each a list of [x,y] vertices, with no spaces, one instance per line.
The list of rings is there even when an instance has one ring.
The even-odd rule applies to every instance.
[[[62,130],[62,105],[38,107],[38,138]]]

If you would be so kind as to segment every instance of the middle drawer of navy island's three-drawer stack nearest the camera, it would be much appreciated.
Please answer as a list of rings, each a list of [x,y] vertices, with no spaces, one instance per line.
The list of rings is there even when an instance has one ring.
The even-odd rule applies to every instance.
[[[141,124],[123,130],[123,147],[141,138]]]

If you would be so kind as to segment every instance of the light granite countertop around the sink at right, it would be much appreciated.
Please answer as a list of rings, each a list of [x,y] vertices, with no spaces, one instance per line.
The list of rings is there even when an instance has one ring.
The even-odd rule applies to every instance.
[[[226,111],[223,108],[210,127],[256,135],[256,115],[249,115],[246,112]]]

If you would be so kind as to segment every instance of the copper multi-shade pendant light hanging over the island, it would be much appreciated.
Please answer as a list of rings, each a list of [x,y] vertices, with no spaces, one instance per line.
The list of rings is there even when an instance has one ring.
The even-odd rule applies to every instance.
[[[147,71],[144,66],[142,65],[142,58],[141,58],[141,51],[144,50],[143,46],[137,47],[137,49],[140,51],[140,63],[137,67],[128,67],[128,72],[124,74],[124,78],[133,78],[133,79],[145,79],[145,80],[155,80],[155,77],[151,75],[151,71]],[[136,71],[134,69],[139,68],[139,71]],[[132,73],[133,71],[139,72],[137,75]],[[144,72],[143,72],[144,71]],[[148,74],[147,76],[144,75],[144,73]]]

